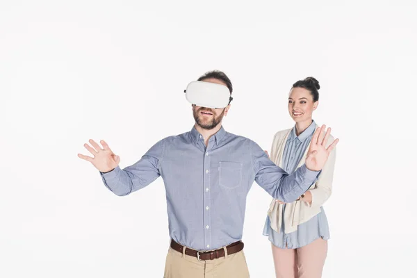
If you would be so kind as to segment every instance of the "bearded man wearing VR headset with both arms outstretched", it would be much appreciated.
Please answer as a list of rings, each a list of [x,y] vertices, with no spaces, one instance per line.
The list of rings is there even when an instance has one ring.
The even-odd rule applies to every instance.
[[[249,277],[241,238],[252,183],[282,202],[293,202],[316,181],[338,140],[326,149],[330,129],[325,132],[322,126],[314,133],[305,165],[288,175],[255,142],[222,127],[232,92],[226,74],[208,72],[186,92],[195,119],[191,131],[160,140],[123,170],[120,157],[103,140],[102,147],[93,140],[92,146],[84,145],[93,158],[79,157],[100,171],[116,195],[163,178],[172,238],[165,278]]]

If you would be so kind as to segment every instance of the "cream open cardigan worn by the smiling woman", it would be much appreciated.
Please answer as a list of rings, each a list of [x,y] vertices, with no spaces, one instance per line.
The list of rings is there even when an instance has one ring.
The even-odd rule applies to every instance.
[[[317,128],[318,126],[316,125],[316,129]],[[282,167],[284,147],[286,145],[286,140],[291,133],[291,130],[292,129],[278,131],[272,140],[270,159],[279,167]],[[329,136],[329,140],[327,140],[327,147],[333,141],[334,138]],[[307,147],[304,156],[300,160],[300,163],[298,163],[297,168],[305,163],[309,147],[310,144]],[[327,201],[327,199],[329,199],[330,195],[332,195],[332,181],[335,161],[336,148],[334,148],[330,153],[325,166],[322,168],[322,172],[320,173],[318,180],[316,183],[313,183],[309,189],[313,197],[311,205],[301,200],[286,204],[284,213],[285,234],[297,231],[297,226],[299,224],[307,222],[313,218],[313,216],[320,213],[320,207]],[[281,224],[283,221],[282,209],[283,205],[279,204],[276,199],[272,199],[270,208],[268,210],[268,215],[270,218],[271,228],[274,229],[277,233],[281,231]]]

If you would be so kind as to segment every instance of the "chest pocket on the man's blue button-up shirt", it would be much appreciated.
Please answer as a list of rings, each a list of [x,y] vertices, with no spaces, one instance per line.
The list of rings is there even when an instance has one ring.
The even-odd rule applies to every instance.
[[[242,184],[243,163],[220,161],[219,184],[225,188],[238,188]]]

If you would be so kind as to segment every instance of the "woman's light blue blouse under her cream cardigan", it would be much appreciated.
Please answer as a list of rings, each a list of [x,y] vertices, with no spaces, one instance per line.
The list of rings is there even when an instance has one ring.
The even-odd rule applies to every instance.
[[[282,157],[282,168],[289,174],[297,169],[297,165],[304,155],[304,152],[306,152],[315,129],[316,123],[313,121],[311,125],[300,134],[300,136],[296,135],[295,126],[289,134]],[[282,210],[283,219],[285,208],[286,206],[284,204],[284,209]],[[298,225],[297,231],[293,231],[290,234],[284,234],[284,221],[281,224],[280,233],[274,231],[270,227],[270,220],[267,215],[265,226],[263,227],[263,235],[268,236],[273,245],[282,249],[300,248],[312,243],[320,237],[324,240],[328,240],[330,238],[329,223],[327,222],[324,209],[321,207],[320,210],[320,213],[315,215],[309,221]]]

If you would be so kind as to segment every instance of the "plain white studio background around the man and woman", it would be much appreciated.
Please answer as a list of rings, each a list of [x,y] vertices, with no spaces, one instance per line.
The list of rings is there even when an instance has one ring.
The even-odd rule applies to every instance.
[[[337,2],[337,3],[336,3]],[[416,1],[0,2],[0,277],[162,277],[157,179],[113,195],[76,154],[105,139],[121,167],[193,126],[183,90],[234,84],[227,131],[270,149],[293,125],[291,85],[314,76],[313,115],[340,138],[323,277],[411,277],[416,260]],[[274,277],[254,183],[243,240]]]

